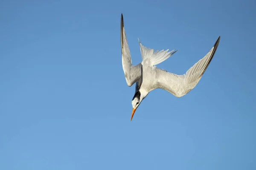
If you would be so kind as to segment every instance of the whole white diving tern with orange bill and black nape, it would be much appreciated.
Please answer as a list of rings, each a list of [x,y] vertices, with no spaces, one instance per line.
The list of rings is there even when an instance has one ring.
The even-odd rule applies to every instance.
[[[172,50],[168,52],[169,49],[166,51],[154,51],[151,48],[143,46],[140,43],[140,40],[139,43],[142,62],[138,65],[132,65],[130,50],[125,34],[123,16],[121,15],[122,67],[125,73],[127,85],[131,87],[136,82],[135,94],[131,101],[133,107],[131,120],[136,109],[150,91],[161,88],[176,97],[182,97],[195,88],[211,62],[219,41],[220,37],[218,37],[218,40],[215,42],[211,50],[202,59],[195,63],[195,65],[189,68],[189,70],[186,71],[186,74],[183,75],[169,73],[155,66],[171,57],[176,51]]]

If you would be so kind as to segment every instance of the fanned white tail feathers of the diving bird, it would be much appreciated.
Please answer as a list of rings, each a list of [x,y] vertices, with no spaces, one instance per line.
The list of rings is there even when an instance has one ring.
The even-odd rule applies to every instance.
[[[138,39],[139,40],[139,39]],[[169,49],[167,50],[157,50],[154,51],[154,49],[151,48],[147,48],[144,45],[141,44],[140,40],[140,52],[141,52],[141,57],[142,57],[142,65],[144,65],[145,60],[147,65],[153,66],[153,65],[157,65],[163,61],[165,61],[166,59],[168,59],[169,57],[171,57],[173,54],[175,54],[177,51],[169,51]],[[169,51],[169,52],[168,52]],[[174,51],[174,52],[173,52]]]

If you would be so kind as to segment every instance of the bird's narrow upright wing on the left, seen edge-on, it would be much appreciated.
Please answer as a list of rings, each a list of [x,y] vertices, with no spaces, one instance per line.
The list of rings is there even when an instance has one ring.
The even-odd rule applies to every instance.
[[[122,48],[122,67],[128,86],[132,86],[140,80],[142,65],[132,65],[131,54],[126,39],[123,16],[121,15],[121,48]]]

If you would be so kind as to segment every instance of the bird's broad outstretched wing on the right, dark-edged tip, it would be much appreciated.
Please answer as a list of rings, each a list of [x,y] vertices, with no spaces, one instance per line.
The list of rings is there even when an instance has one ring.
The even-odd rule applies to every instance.
[[[172,74],[155,67],[157,80],[154,88],[162,88],[163,90],[168,91],[176,97],[182,97],[189,93],[189,91],[195,88],[202,75],[204,74],[204,71],[207,69],[209,63],[212,60],[212,57],[215,54],[219,41],[220,37],[218,37],[215,45],[206,54],[206,56],[204,56],[204,58],[200,59],[197,63],[195,63],[195,65],[189,68],[186,74]]]

